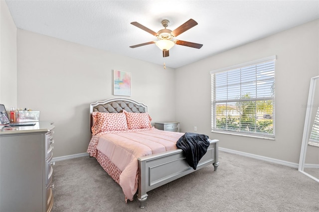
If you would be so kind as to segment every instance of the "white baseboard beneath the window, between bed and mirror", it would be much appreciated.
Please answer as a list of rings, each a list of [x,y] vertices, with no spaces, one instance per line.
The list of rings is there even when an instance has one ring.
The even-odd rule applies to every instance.
[[[278,159],[264,157],[264,156],[260,156],[260,155],[254,155],[254,154],[240,152],[240,151],[236,151],[236,150],[232,150],[232,149],[226,149],[226,148],[222,148],[222,147],[218,147],[218,150],[220,150],[222,152],[228,152],[228,153],[232,153],[232,154],[242,155],[242,156],[255,158],[258,160],[263,160],[263,161],[267,161],[267,162],[271,162],[271,163],[275,163],[275,164],[280,164],[280,165],[284,165],[284,166],[289,166],[289,167],[298,169],[298,163],[292,163],[292,162],[288,162],[288,161],[284,161],[284,160],[278,160]]]

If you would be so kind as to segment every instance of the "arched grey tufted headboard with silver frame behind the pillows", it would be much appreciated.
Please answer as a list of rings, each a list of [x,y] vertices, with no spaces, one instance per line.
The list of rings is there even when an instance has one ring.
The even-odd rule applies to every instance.
[[[90,104],[90,126],[93,125],[92,112],[147,112],[148,106],[128,98],[113,98]]]

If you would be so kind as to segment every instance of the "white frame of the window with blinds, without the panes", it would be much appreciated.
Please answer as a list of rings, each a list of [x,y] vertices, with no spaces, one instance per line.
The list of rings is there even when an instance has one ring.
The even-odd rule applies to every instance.
[[[247,137],[257,137],[257,138],[263,138],[263,139],[270,139],[270,140],[274,140],[275,139],[275,89],[273,89],[273,96],[271,98],[267,97],[267,98],[258,98],[257,96],[255,98],[249,98],[249,100],[251,102],[254,102],[255,104],[258,103],[258,101],[260,100],[271,100],[272,101],[272,109],[273,109],[273,133],[272,134],[268,134],[268,133],[258,133],[258,132],[251,132],[251,131],[235,131],[235,130],[229,130],[229,129],[221,129],[221,128],[217,128],[216,127],[216,103],[218,101],[216,101],[216,87],[215,87],[215,82],[214,82],[214,78],[215,75],[218,73],[222,73],[222,72],[230,72],[230,71],[234,71],[236,69],[239,69],[241,71],[241,69],[245,69],[245,67],[250,67],[250,66],[258,66],[260,64],[264,64],[267,62],[274,62],[274,69],[273,69],[273,82],[275,85],[275,64],[276,64],[276,59],[277,56],[270,56],[270,57],[266,57],[266,58],[262,58],[262,59],[258,59],[258,60],[254,60],[254,61],[250,61],[250,62],[246,62],[246,63],[242,63],[242,64],[238,64],[238,65],[234,65],[234,66],[230,66],[230,67],[226,67],[226,68],[222,68],[222,69],[217,69],[217,70],[213,70],[210,71],[210,75],[211,75],[211,132],[216,132],[216,133],[223,133],[223,134],[231,134],[231,135],[240,135],[240,136],[247,136]],[[240,72],[239,71],[239,72]],[[241,73],[240,73],[241,76]],[[257,76],[257,74],[256,74]],[[257,80],[255,81],[256,83],[258,82]],[[240,86],[243,84],[242,80],[240,80]],[[256,86],[257,87],[257,86]],[[229,85],[227,85],[227,88],[229,88]],[[242,95],[242,94],[240,94]],[[224,100],[224,101],[231,101],[228,97]],[[222,101],[220,101],[222,102]],[[234,102],[234,99],[232,99],[232,102]],[[243,98],[239,98],[236,99],[236,103],[237,102],[245,102],[243,101]],[[247,101],[246,101],[247,102]],[[228,106],[226,106],[228,107]],[[227,110],[227,109],[226,109]],[[228,111],[228,110],[227,110]],[[255,120],[257,123],[257,119]],[[243,122],[242,122],[243,123]],[[242,124],[241,123],[241,124]]]

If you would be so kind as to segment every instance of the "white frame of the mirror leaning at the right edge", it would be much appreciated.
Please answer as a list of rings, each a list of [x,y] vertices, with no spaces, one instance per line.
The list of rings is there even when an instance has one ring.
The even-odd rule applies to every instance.
[[[304,171],[305,168],[305,160],[306,160],[306,153],[307,153],[307,146],[308,146],[308,140],[310,136],[310,130],[312,129],[311,126],[311,114],[313,111],[313,103],[315,100],[315,89],[316,89],[316,83],[319,80],[319,76],[313,77],[310,80],[310,87],[309,87],[309,96],[308,96],[308,103],[307,103],[307,111],[306,111],[306,118],[305,118],[305,126],[304,126],[304,134],[303,134],[303,142],[301,145],[301,152],[300,152],[300,159],[299,159],[299,166],[298,171],[305,174],[306,176],[310,177],[311,179],[317,181],[319,183],[319,179],[308,174]]]

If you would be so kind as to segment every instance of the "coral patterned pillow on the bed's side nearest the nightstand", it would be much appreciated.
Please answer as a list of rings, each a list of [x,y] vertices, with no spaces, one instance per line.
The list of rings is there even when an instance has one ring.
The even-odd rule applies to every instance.
[[[129,129],[152,128],[152,118],[147,112],[128,112],[123,110],[126,115]]]

